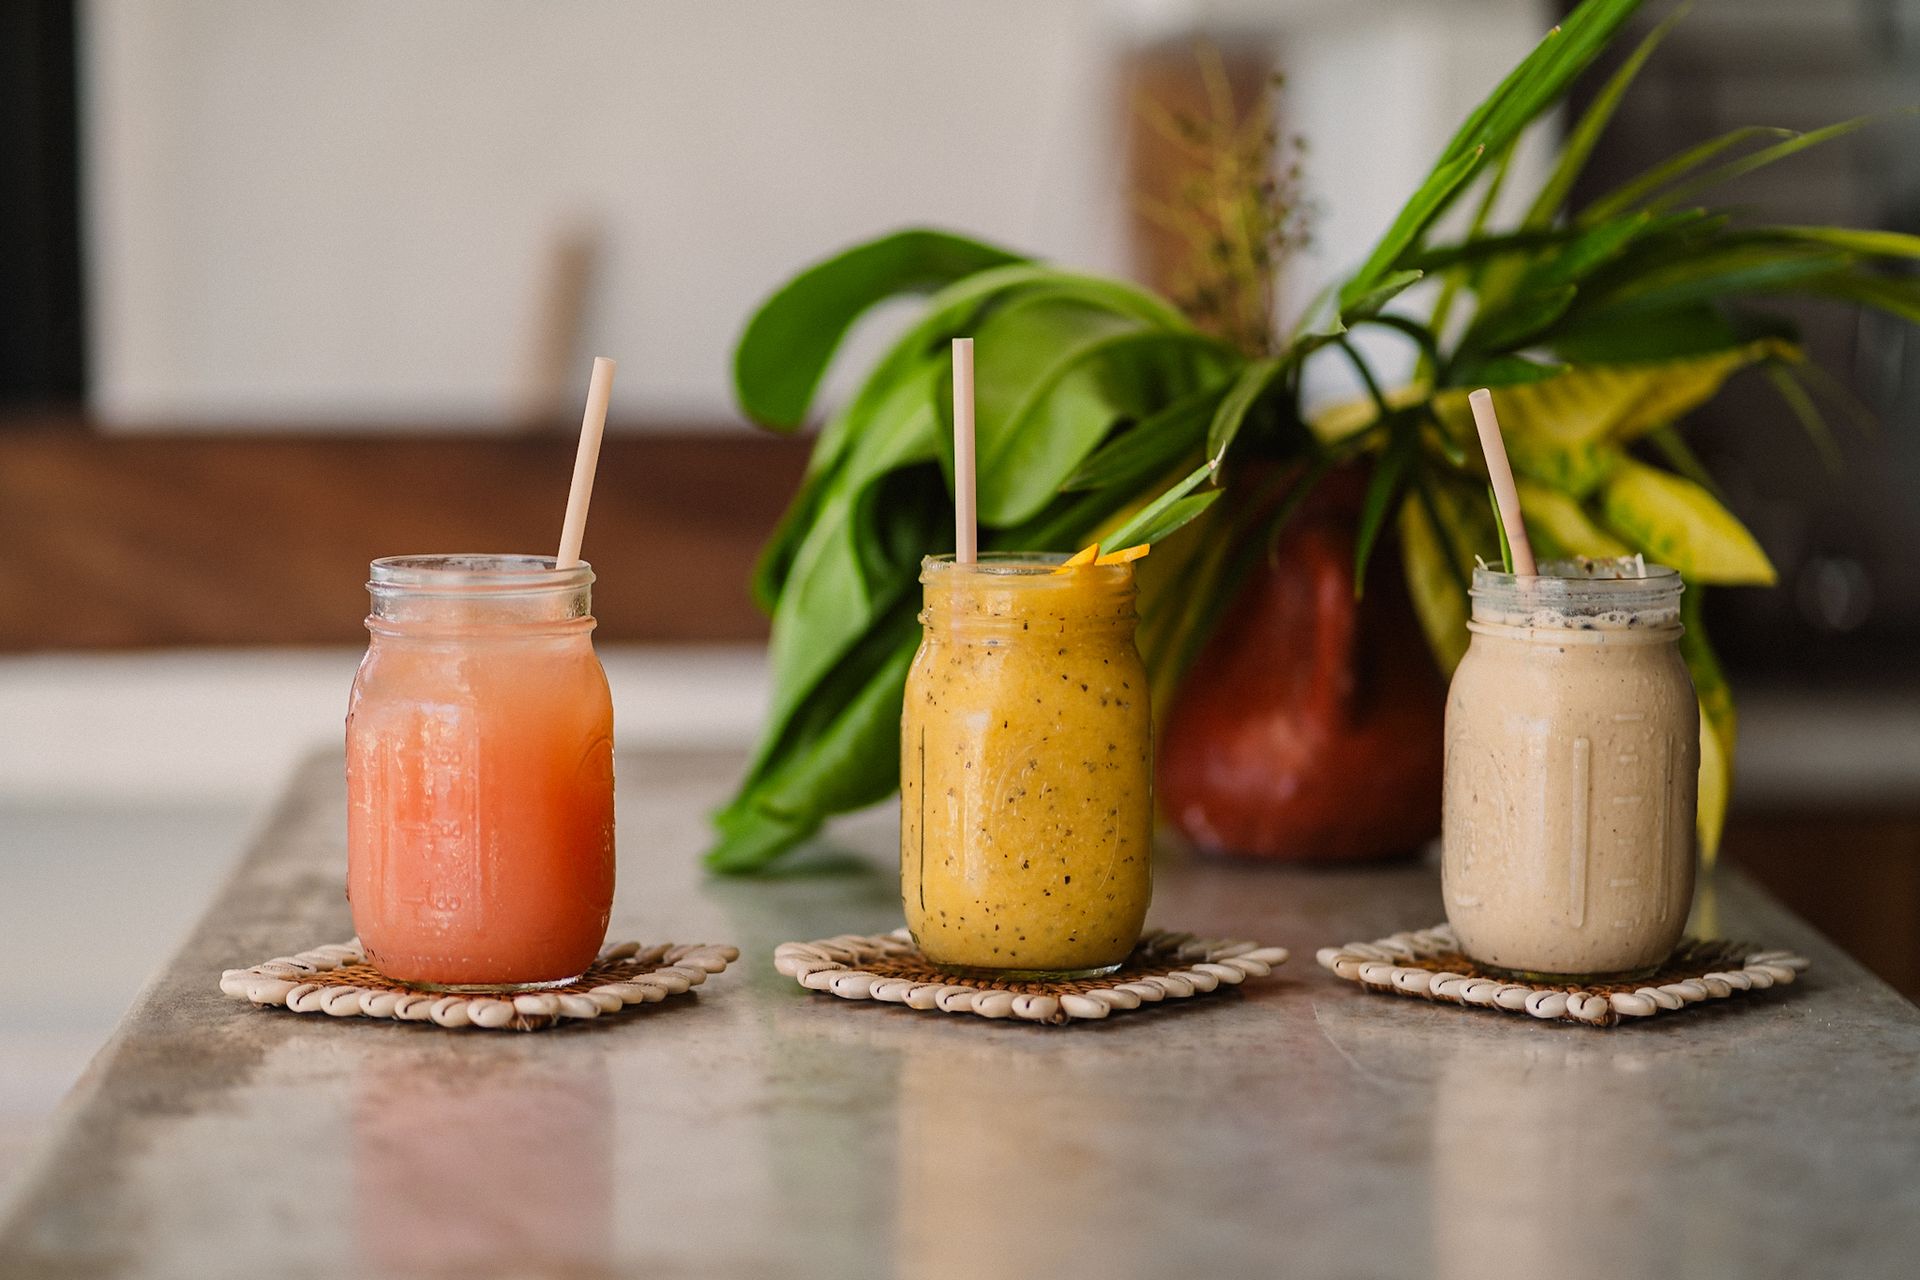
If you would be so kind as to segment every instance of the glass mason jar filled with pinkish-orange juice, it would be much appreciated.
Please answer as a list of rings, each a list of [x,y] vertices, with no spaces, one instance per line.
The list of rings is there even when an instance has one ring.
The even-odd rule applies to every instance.
[[[593,570],[551,557],[372,562],[348,704],[348,898],[392,979],[576,979],[612,910],[612,700]]]

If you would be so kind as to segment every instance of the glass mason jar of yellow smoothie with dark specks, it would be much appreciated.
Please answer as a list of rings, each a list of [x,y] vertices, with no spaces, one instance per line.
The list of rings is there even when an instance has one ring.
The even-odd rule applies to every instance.
[[[1108,973],[1152,894],[1152,739],[1133,566],[922,564],[900,716],[900,896],[922,954]]]

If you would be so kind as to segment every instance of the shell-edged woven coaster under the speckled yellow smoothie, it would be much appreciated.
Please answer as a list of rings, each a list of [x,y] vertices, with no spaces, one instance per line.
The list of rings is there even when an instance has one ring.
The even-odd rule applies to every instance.
[[[935,969],[904,929],[820,942],[781,942],[774,967],[808,990],[841,1000],[883,1000],[908,1009],[1014,1017],[1060,1027],[1162,1000],[1204,996],[1267,977],[1286,948],[1148,929],[1114,973],[1096,979],[1002,981]]]

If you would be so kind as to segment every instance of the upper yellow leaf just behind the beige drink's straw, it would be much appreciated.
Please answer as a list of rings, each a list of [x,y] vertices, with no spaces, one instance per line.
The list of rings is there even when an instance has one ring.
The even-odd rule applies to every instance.
[[[1676,361],[1582,365],[1501,388],[1494,399],[1507,455],[1523,476],[1586,497],[1613,468],[1619,445],[1713,399],[1728,376],[1768,357],[1797,359],[1797,347],[1764,338]],[[1457,438],[1473,439],[1467,388],[1438,391],[1434,411]]]

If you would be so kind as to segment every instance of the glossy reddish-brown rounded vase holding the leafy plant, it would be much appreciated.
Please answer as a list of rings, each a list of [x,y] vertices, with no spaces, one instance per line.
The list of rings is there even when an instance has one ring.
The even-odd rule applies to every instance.
[[[1331,472],[1281,532],[1173,697],[1162,814],[1242,858],[1356,862],[1440,831],[1446,685],[1392,526],[1354,599],[1367,472]]]

